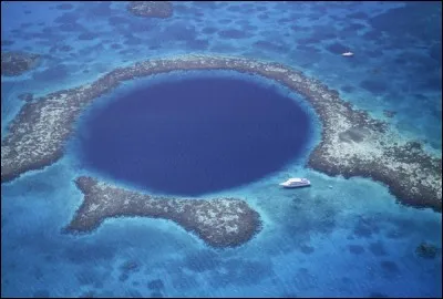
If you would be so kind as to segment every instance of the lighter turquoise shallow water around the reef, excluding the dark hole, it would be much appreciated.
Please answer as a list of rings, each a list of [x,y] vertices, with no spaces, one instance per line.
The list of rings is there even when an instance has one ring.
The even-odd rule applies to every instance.
[[[23,104],[20,93],[76,86],[137,60],[220,53],[302,70],[374,117],[394,111],[393,126],[441,156],[441,3],[174,2],[174,17],[165,20],[134,18],[125,2],[1,6],[2,40],[13,41],[2,51],[48,55],[33,72],[2,78],[2,133]],[[342,49],[356,56],[343,59]],[[319,132],[313,136],[310,146]],[[442,296],[441,254],[414,252],[421,241],[441,248],[441,214],[398,205],[369,179],[307,169],[303,157],[206,195],[238,196],[260,213],[262,230],[239,248],[213,250],[155,219],[113,219],[91,235],[62,235],[82,200],[72,179],[86,173],[75,148],[73,142],[56,164],[1,187],[2,297]],[[312,187],[276,188],[289,176],[309,177]],[[135,270],[122,270],[126,261]],[[153,287],[155,279],[162,283]]]

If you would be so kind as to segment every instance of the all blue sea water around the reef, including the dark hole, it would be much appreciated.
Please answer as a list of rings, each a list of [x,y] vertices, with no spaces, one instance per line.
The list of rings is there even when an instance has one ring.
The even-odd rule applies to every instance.
[[[186,1],[164,19],[126,6],[1,2],[2,53],[43,58],[2,75],[2,136],[22,93],[196,53],[299,70],[441,158],[441,2]],[[142,78],[97,99],[74,127],[61,159],[1,185],[1,297],[442,297],[442,214],[404,206],[370,178],[307,167],[321,122],[278,82],[235,71]],[[241,198],[262,227],[217,249],[155,218],[62,234],[83,200],[81,175],[166,197]],[[279,188],[293,176],[311,187]],[[416,255],[423,241],[434,258]]]

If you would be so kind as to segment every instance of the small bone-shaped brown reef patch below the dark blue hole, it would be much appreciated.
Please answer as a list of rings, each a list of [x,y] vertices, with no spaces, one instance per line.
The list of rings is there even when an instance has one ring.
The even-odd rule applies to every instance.
[[[158,198],[125,190],[91,177],[79,177],[83,204],[65,228],[66,233],[89,233],[111,217],[151,217],[172,220],[194,233],[212,247],[235,247],[261,228],[260,217],[236,198]]]

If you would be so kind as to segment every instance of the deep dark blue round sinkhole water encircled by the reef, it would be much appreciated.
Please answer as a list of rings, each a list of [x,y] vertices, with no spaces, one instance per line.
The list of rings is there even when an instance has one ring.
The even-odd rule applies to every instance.
[[[166,194],[197,196],[305,154],[310,118],[276,89],[235,78],[172,80],[126,93],[84,121],[83,163]]]

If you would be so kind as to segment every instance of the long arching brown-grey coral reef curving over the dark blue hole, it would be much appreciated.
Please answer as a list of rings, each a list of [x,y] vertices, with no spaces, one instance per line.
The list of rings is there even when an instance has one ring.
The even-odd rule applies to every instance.
[[[27,103],[1,143],[1,181],[59,159],[72,123],[94,99],[121,82],[187,70],[234,70],[275,80],[311,104],[322,122],[321,142],[308,166],[328,175],[362,176],[388,185],[406,205],[442,210],[442,159],[408,141],[388,123],[356,110],[339,93],[288,66],[243,58],[185,55],[117,68],[95,82]]]

